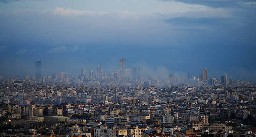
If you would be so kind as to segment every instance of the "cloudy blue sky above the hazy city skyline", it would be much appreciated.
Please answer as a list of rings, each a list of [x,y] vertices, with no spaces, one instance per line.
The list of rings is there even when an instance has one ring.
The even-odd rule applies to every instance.
[[[0,0],[0,74],[33,76],[81,69],[107,74],[209,78],[224,73],[256,82],[255,0]]]

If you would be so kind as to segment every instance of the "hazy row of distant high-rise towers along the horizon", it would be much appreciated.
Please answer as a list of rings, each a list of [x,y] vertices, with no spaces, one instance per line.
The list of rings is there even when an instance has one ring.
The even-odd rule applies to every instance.
[[[113,71],[113,72],[110,72],[109,74],[106,74],[101,68],[102,68],[102,66],[100,66],[100,65],[97,65],[97,71],[94,71],[94,69],[92,69],[93,67],[91,67],[91,69],[88,71],[88,75],[87,75],[87,70],[86,69],[84,69],[84,68],[82,68],[82,70],[81,70],[81,75],[73,75],[73,74],[70,74],[70,75],[73,75],[73,76],[75,76],[75,77],[78,77],[79,79],[81,79],[81,76],[84,76],[83,78],[86,78],[87,76],[88,76],[88,78],[89,78],[89,80],[91,79],[92,80],[92,78],[96,78],[96,76],[110,76],[111,75],[111,73],[112,74],[114,74],[114,72],[117,72],[117,75],[118,76],[120,76],[120,78],[128,78],[128,75],[127,75],[127,73],[129,73],[129,77],[130,76],[132,76],[132,79],[133,80],[141,80],[141,67],[138,67],[138,70],[137,70],[137,67],[133,67],[133,69],[132,69],[132,75],[131,75],[131,69],[130,68],[125,68],[125,59],[124,58],[122,58],[122,59],[119,59],[120,60],[120,62],[119,62],[119,69],[121,69],[121,68],[123,68],[124,69],[124,75],[120,75],[120,70],[118,70],[118,68],[115,70],[115,71]],[[44,75],[46,75],[46,74],[44,74],[44,75],[42,75],[41,73],[41,60],[40,61],[36,61],[35,62],[35,72],[37,72],[37,73],[35,73],[35,75],[32,75],[32,76],[29,76],[26,72],[24,72],[23,73],[23,79],[24,79],[24,77],[35,77],[35,78],[43,78],[43,76]],[[37,76],[37,74],[38,75],[41,75],[41,77],[38,77]],[[46,76],[52,76],[52,78],[53,79],[57,79],[57,77],[58,77],[58,75],[59,75],[59,77],[62,79],[62,78],[68,78],[69,77],[69,72],[59,72],[59,74],[58,74],[58,72],[57,73],[52,73],[52,74],[50,74],[50,75],[46,75]],[[144,73],[144,75],[145,75],[145,73]],[[180,75],[179,73],[173,73],[173,74],[171,74],[171,73],[162,73],[162,74],[159,74],[160,76],[162,76],[162,77],[159,77],[159,79],[165,79],[165,77],[166,77],[166,75],[168,75],[168,77],[170,78],[169,80],[171,81],[171,83],[172,84],[174,84],[175,82],[176,82],[176,75],[178,75],[180,78],[187,78],[187,79],[191,79],[191,77],[187,77],[187,76],[185,76],[185,75]],[[149,77],[155,77],[155,76],[159,76],[159,75],[150,75],[150,74],[147,74],[147,76],[149,76]],[[188,73],[188,75],[189,75],[189,73]],[[8,76],[8,77],[3,77],[3,75],[2,74],[0,74],[0,76],[2,77],[2,78],[9,78],[10,76],[12,76],[13,77],[13,75],[10,75],[10,76]],[[135,78],[134,78],[134,76],[135,76]],[[200,76],[201,76],[201,78],[200,78]],[[19,76],[18,76],[19,77]],[[116,76],[117,77],[117,76]],[[20,77],[20,78],[22,78],[22,77]],[[82,78],[82,79],[83,79]],[[147,78],[146,77],[146,75],[145,75],[145,77],[144,78]],[[195,78],[195,79],[194,79]],[[196,80],[196,79],[199,79],[199,80],[209,80],[209,79],[213,79],[213,78],[215,78],[215,79],[218,79],[218,80],[221,80],[221,83],[223,84],[223,85],[227,85],[227,81],[230,81],[230,79],[231,79],[231,81],[233,81],[233,80],[244,80],[244,79],[233,79],[231,76],[230,77],[228,77],[227,76],[227,74],[226,73],[224,73],[224,75],[222,76],[222,75],[220,75],[220,77],[211,77],[211,78],[208,78],[208,70],[206,69],[206,68],[204,68],[203,69],[203,72],[202,72],[202,74],[199,74],[199,77],[196,77],[196,76],[192,76],[192,79],[194,79],[194,80]],[[229,80],[228,80],[229,79]],[[250,81],[250,80],[246,80],[246,81]]]

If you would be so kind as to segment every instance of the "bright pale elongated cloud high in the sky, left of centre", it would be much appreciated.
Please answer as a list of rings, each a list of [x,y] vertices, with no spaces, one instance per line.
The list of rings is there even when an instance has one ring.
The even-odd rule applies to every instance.
[[[53,12],[54,15],[84,15],[84,14],[90,14],[90,15],[104,15],[109,14],[108,12],[104,11],[86,11],[86,10],[73,10],[73,9],[64,9],[63,7],[56,7]]]

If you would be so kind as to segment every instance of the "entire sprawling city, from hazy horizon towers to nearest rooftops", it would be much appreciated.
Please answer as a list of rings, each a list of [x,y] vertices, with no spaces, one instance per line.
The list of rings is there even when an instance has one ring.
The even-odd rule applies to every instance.
[[[143,78],[140,67],[131,75],[125,59],[109,76],[101,66],[89,74],[82,69],[78,77],[68,72],[42,76],[41,61],[35,69],[33,77],[0,75],[0,117],[15,126],[0,136],[255,137],[255,130],[228,126],[256,121],[252,81],[227,74],[209,79],[206,68],[198,79]]]

